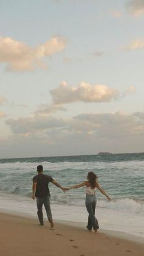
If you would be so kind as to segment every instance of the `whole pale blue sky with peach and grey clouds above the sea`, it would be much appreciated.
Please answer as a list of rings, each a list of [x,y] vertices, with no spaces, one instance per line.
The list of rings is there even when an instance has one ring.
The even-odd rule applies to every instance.
[[[0,6],[0,158],[144,152],[144,0]]]

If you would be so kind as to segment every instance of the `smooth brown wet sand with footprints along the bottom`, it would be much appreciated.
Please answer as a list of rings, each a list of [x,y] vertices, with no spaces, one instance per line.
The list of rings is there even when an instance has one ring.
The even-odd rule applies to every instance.
[[[37,219],[0,214],[1,256],[143,256],[144,244],[54,222],[54,230]]]

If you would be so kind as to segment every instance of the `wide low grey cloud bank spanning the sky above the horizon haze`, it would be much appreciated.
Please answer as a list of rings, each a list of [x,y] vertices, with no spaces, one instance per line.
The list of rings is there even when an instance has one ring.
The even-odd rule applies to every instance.
[[[57,117],[26,117],[18,119],[8,119],[5,121],[15,134],[43,134],[43,131],[52,133],[59,130],[59,133],[87,133],[97,136],[126,136],[134,134],[144,128],[144,112],[126,114],[123,112],[105,114],[79,114],[71,118]],[[144,133],[144,129],[141,130]],[[59,135],[59,134],[58,134]]]

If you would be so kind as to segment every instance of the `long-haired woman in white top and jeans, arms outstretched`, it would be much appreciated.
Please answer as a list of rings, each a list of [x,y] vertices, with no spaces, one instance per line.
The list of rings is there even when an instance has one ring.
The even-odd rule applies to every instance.
[[[96,208],[96,195],[95,191],[96,188],[100,190],[103,195],[107,197],[107,199],[110,201],[110,197],[107,195],[107,193],[101,188],[98,184],[98,177],[96,176],[95,173],[90,171],[87,175],[87,180],[82,182],[81,184],[74,185],[72,187],[69,187],[68,189],[71,188],[80,188],[85,186],[85,192],[86,192],[86,198],[85,198],[85,205],[88,211],[88,223],[87,223],[87,229],[88,230],[93,230],[96,232],[99,228],[98,225],[98,220],[95,217],[95,208]]]

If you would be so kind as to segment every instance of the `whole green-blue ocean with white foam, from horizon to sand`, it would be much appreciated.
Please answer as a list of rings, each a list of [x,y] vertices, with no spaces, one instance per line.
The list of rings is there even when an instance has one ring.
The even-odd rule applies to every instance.
[[[64,187],[83,182],[89,171],[96,173],[99,184],[112,198],[109,202],[96,191],[99,227],[144,238],[144,153],[0,159],[1,212],[37,217],[31,198],[37,165],[43,165],[44,173]],[[84,187],[63,193],[49,184],[49,189],[54,219],[86,225]]]

